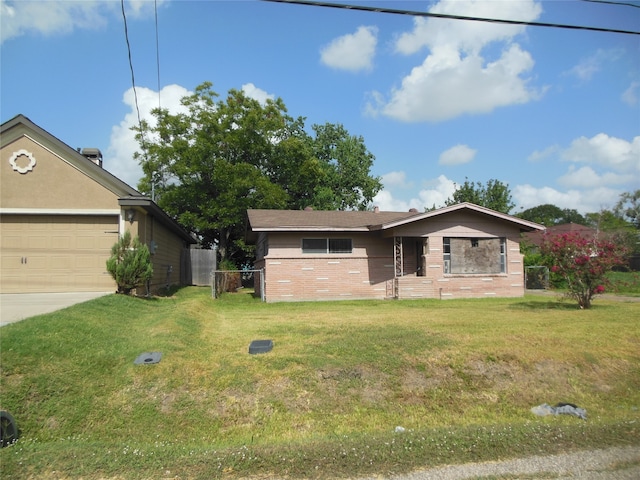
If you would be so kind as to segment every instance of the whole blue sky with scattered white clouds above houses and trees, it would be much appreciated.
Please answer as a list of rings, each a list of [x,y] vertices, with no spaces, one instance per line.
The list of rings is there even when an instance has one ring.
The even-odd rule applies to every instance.
[[[99,148],[135,187],[120,2],[0,2],[1,120],[22,113],[74,148]],[[578,0],[335,3],[640,30],[640,8]],[[594,212],[640,188],[640,35],[158,0],[156,50],[154,2],[125,1],[125,12],[144,118],[159,104],[176,111],[204,81],[222,98],[281,97],[309,128],[341,123],[364,138],[381,210],[442,206],[465,178],[508,184],[512,213]]]

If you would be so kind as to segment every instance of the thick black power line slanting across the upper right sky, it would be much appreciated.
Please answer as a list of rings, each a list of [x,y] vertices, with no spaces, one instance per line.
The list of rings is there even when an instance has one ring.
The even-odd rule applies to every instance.
[[[581,25],[565,25],[560,23],[525,22],[520,20],[504,20],[504,19],[498,19],[498,18],[467,17],[464,15],[449,15],[444,13],[397,10],[394,8],[366,7],[362,5],[347,5],[347,4],[339,4],[339,3],[316,2],[316,1],[310,1],[310,0],[262,0],[262,1],[274,2],[274,3],[292,3],[297,5],[308,5],[313,7],[340,8],[343,10],[360,10],[364,12],[391,13],[395,15],[409,15],[412,17],[433,17],[433,18],[444,18],[449,20],[468,20],[473,22],[502,23],[506,25],[526,25],[531,27],[565,28],[570,30],[589,30],[593,32],[608,32],[608,33],[623,33],[627,35],[640,35],[640,32],[634,32],[630,30],[618,30],[613,28],[587,27],[587,26],[581,26]]]

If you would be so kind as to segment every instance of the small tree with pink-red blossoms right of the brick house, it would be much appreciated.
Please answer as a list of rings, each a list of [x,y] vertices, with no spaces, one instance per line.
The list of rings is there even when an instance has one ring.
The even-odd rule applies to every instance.
[[[580,308],[591,308],[593,296],[605,292],[607,272],[624,264],[626,251],[614,241],[570,232],[545,238],[541,253],[551,272],[564,280],[566,295]]]

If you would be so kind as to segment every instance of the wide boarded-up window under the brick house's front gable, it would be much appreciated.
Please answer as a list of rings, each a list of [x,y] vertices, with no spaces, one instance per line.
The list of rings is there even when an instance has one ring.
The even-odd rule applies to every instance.
[[[506,238],[442,239],[444,273],[496,275],[507,272]]]

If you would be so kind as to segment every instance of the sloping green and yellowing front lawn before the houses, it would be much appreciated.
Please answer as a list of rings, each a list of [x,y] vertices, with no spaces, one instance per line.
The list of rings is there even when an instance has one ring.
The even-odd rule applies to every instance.
[[[334,478],[640,445],[639,305],[263,304],[185,288],[0,331],[5,478]],[[249,343],[274,349],[249,355]],[[159,351],[155,365],[134,365]],[[571,402],[589,419],[536,417]],[[396,427],[402,427],[397,429]]]

